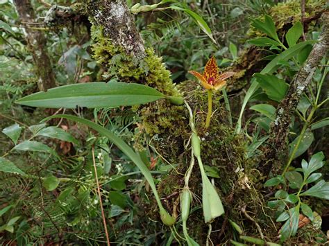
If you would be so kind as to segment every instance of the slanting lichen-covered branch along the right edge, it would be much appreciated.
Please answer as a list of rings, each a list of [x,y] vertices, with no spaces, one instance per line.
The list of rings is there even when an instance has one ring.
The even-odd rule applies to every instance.
[[[281,101],[276,110],[276,120],[271,125],[269,148],[265,152],[267,163],[262,166],[264,175],[272,172],[277,173],[281,168],[281,159],[285,161],[287,155],[287,137],[289,133],[289,124],[292,121],[292,115],[305,91],[307,85],[312,81],[314,71],[326,56],[329,49],[329,13],[324,12],[322,15],[323,30],[319,42],[314,44],[313,49],[308,56],[305,64],[298,71],[292,80],[287,95]],[[282,155],[283,154],[283,155]],[[282,158],[283,157],[283,158]]]

